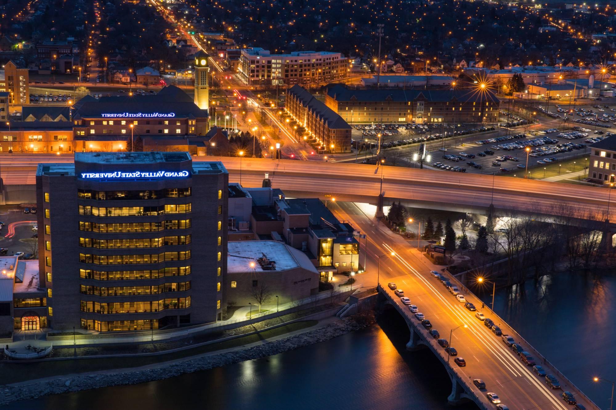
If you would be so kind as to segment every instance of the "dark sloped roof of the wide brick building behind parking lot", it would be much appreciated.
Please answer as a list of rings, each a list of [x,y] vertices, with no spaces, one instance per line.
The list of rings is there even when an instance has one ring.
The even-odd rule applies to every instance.
[[[497,102],[496,95],[486,90],[482,93],[476,90],[351,90],[342,84],[333,84],[327,89],[327,95],[336,101],[395,101],[407,102],[413,100],[427,100],[429,102]]]

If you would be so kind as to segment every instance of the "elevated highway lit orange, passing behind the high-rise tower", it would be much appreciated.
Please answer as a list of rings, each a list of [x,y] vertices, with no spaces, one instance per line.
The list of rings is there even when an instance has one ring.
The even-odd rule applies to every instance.
[[[39,162],[70,162],[72,156],[20,155],[0,158],[5,185],[35,183]],[[383,178],[384,204],[402,201],[410,207],[484,213],[517,209],[553,214],[555,207],[605,212],[609,190],[515,177],[466,174],[366,164],[290,159],[194,157],[195,161],[222,161],[229,180],[247,187],[261,186],[265,173],[272,185],[288,196],[318,196],[344,201],[377,203]],[[616,199],[616,198],[615,198]],[[610,214],[614,210],[610,206]]]

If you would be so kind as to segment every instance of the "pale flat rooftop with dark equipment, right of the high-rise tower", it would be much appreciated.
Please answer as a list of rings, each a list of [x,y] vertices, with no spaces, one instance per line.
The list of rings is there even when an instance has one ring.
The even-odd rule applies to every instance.
[[[227,272],[267,272],[262,269],[257,259],[264,255],[276,263],[274,271],[289,270],[299,267],[298,261],[291,254],[290,248],[277,241],[230,241],[227,246]],[[254,267],[251,266],[254,263]]]

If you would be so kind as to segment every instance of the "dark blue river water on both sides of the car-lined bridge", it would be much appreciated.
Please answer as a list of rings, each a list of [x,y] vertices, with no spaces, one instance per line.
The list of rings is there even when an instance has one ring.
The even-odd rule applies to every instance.
[[[616,360],[616,278],[562,274],[497,291],[496,312],[601,408]],[[491,302],[490,292],[483,295]],[[12,403],[6,409],[445,409],[451,384],[429,350],[407,352],[393,310],[378,324],[279,355],[139,385]],[[476,409],[474,404],[458,409]]]

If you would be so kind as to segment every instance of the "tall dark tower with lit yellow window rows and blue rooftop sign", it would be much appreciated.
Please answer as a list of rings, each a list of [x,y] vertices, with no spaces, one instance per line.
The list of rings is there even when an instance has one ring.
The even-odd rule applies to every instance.
[[[108,332],[221,319],[228,182],[222,163],[185,152],[39,164],[48,326]]]

